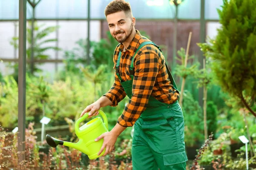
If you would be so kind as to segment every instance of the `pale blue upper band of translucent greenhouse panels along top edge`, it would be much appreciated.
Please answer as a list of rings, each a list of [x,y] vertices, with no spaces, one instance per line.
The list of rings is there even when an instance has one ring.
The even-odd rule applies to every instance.
[[[35,0],[37,2],[38,0]],[[105,19],[104,9],[111,0],[90,0],[90,17],[93,20]],[[137,19],[172,19],[174,6],[169,0],[127,0],[131,3],[134,17]],[[156,6],[151,6],[152,2]],[[87,19],[87,0],[41,0],[36,6],[35,18],[54,19]],[[205,0],[206,20],[218,20],[217,8],[222,0]],[[0,0],[0,20],[18,19],[18,0]],[[201,0],[184,0],[178,10],[178,18],[184,20],[200,19]],[[32,7],[27,3],[27,18],[32,16]]]

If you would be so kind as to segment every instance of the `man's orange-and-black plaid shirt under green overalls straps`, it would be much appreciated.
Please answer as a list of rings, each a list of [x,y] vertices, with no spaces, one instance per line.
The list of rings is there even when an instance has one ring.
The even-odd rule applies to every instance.
[[[114,69],[118,59],[118,53],[122,51],[119,72],[124,81],[131,80],[129,66],[131,65],[135,51],[144,41],[149,40],[141,36],[140,32],[137,31],[137,34],[125,52],[123,51],[124,45],[122,43],[119,47],[116,47],[113,57]],[[154,96],[160,102],[167,104],[172,104],[179,98],[178,92],[176,92],[169,80],[164,56],[154,45],[145,45],[137,52],[134,58],[134,69],[133,95],[117,121],[119,125],[124,127],[134,125],[141,113],[146,109],[150,95]],[[116,74],[112,88],[103,96],[108,97],[113,102],[111,106],[117,106],[118,102],[125,98],[126,93]]]

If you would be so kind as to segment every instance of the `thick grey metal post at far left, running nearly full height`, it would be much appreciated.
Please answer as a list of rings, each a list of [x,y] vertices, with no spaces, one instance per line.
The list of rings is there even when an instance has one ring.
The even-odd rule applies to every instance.
[[[19,162],[25,160],[26,119],[26,0],[19,0],[19,74],[18,74],[18,152]]]

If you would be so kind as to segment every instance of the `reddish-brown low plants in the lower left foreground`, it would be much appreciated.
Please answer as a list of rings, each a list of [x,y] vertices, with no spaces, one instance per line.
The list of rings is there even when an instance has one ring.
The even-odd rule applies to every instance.
[[[90,164],[84,164],[81,160],[81,152],[73,148],[58,146],[57,148],[49,148],[49,153],[43,153],[39,150],[40,146],[36,143],[35,133],[33,131],[33,123],[29,124],[26,129],[26,150],[23,152],[26,160],[20,162],[18,156],[22,153],[17,151],[17,133],[6,133],[0,127],[0,169],[17,169],[20,170],[131,170],[131,159],[123,159],[120,162],[115,161],[118,152],[110,153],[108,156],[99,159],[90,160]],[[127,142],[127,141],[126,141]],[[125,143],[125,142],[124,142]],[[131,144],[123,145],[123,150],[128,150]],[[130,148],[131,149],[131,148]],[[122,152],[122,150],[119,150]],[[131,156],[131,150],[128,153],[122,153],[123,156],[128,154]],[[120,155],[120,154],[119,154]]]

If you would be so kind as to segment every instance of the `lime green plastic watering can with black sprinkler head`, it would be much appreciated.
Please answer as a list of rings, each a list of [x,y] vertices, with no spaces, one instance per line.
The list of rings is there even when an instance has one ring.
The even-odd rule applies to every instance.
[[[46,142],[51,147],[57,147],[57,145],[64,145],[67,147],[73,147],[76,150],[80,150],[82,153],[88,155],[89,159],[96,159],[105,153],[105,149],[98,156],[99,150],[102,147],[103,139],[95,142],[94,140],[102,133],[108,132],[108,119],[105,113],[99,110],[99,114],[103,117],[104,123],[101,117],[96,117],[86,124],[79,127],[79,124],[86,119],[89,115],[85,113],[80,117],[75,124],[76,136],[79,138],[77,143],[61,141],[53,138],[50,135],[46,135]]]

